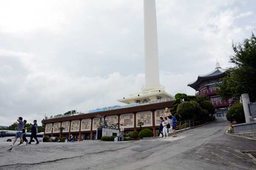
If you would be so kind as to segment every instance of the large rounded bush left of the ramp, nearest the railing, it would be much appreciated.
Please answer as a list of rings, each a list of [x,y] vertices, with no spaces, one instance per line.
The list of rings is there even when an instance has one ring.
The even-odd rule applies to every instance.
[[[182,120],[195,119],[196,114],[201,113],[201,107],[197,102],[182,102],[177,108],[178,115]]]

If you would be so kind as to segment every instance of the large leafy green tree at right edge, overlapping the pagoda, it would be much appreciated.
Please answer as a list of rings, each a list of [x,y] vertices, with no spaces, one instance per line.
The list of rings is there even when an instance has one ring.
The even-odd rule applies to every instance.
[[[234,97],[238,100],[241,94],[247,93],[251,101],[256,100],[256,37],[252,33],[250,38],[238,45],[232,44],[234,55],[230,56],[230,63],[234,67],[227,69],[227,77],[222,78],[218,94],[225,98]]]

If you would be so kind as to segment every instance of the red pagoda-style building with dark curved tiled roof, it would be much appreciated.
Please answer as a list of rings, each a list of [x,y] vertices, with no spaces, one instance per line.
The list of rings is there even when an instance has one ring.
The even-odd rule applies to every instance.
[[[217,95],[218,85],[223,82],[220,78],[225,77],[226,69],[221,68],[220,64],[216,63],[216,68],[208,74],[198,75],[198,79],[188,84],[189,87],[195,89],[195,96],[208,96],[208,99],[216,108],[216,116],[226,116],[227,109],[232,103],[228,97],[222,100],[221,96]]]

